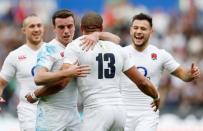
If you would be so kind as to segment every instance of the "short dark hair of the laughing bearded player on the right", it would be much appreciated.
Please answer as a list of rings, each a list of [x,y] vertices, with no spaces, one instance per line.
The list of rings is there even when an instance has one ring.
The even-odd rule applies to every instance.
[[[147,14],[144,14],[144,13],[140,13],[140,14],[137,14],[137,15],[134,15],[133,16],[133,19],[132,19],[132,23],[135,21],[135,20],[146,20],[149,22],[150,26],[152,27],[153,24],[152,24],[152,17],[147,15]]]

